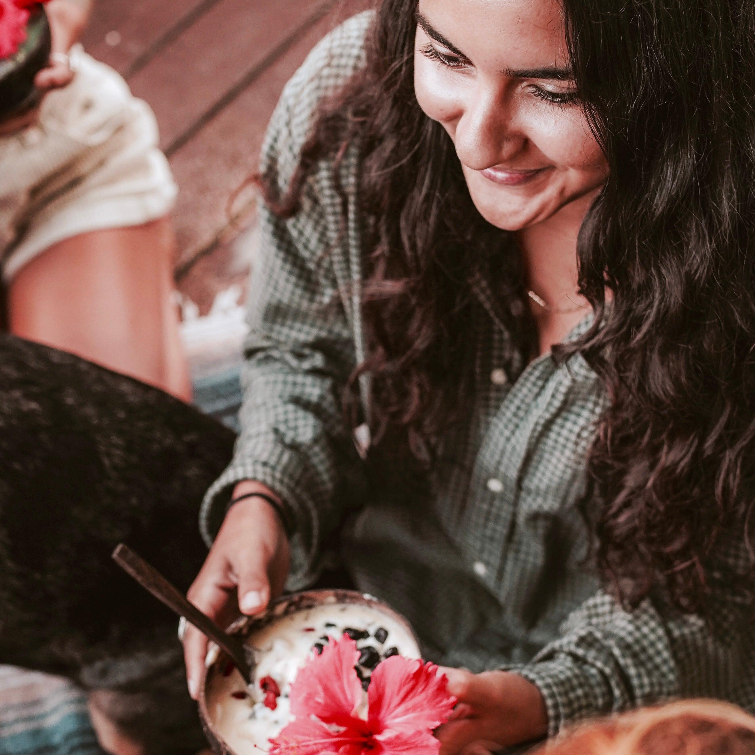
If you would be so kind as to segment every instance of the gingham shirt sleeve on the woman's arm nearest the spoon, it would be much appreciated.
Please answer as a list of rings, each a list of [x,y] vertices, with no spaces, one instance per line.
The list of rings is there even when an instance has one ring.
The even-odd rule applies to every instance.
[[[338,48],[340,59],[329,53],[338,35],[344,30],[310,54],[270,122],[260,167],[277,178],[282,192],[326,94],[322,90],[332,90],[350,74],[344,45]],[[209,544],[237,482],[254,479],[276,492],[293,531],[292,590],[316,576],[322,541],[343,516],[347,491],[362,464],[343,409],[356,355],[349,294],[334,272],[340,232],[334,208],[341,205],[333,171],[327,164],[316,167],[302,210],[288,220],[260,203],[260,248],[248,293],[242,431],[233,461],[205,495],[200,514]]]

